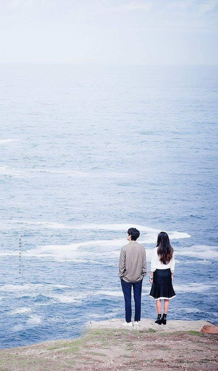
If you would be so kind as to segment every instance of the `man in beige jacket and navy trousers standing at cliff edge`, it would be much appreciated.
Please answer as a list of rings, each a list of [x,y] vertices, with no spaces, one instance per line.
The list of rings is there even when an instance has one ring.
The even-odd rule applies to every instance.
[[[146,253],[145,247],[140,245],[136,240],[140,233],[136,228],[128,229],[129,243],[122,247],[120,251],[119,273],[121,286],[125,299],[126,322],[123,326],[132,326],[132,306],[131,292],[133,286],[133,297],[135,301],[135,318],[134,325],[138,325],[141,319],[141,295],[142,280],[146,276]]]

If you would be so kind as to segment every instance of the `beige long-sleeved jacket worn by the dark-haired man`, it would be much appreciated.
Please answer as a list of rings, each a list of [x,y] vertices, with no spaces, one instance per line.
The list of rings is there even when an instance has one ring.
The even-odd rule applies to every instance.
[[[120,251],[119,277],[126,282],[138,282],[146,276],[145,247],[130,241]]]

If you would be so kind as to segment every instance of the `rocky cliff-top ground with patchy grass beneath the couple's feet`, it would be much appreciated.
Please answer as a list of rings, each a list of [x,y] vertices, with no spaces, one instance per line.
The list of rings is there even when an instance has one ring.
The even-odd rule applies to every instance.
[[[120,320],[92,322],[78,339],[1,349],[0,371],[218,370],[217,334],[200,332],[206,321],[144,320],[124,329]]]

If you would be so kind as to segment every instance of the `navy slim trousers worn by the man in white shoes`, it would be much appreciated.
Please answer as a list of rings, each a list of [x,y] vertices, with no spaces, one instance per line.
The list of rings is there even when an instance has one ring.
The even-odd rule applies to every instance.
[[[133,286],[133,297],[135,301],[135,317],[134,321],[140,321],[141,319],[141,296],[142,296],[142,281],[139,282],[126,282],[121,279],[121,286],[123,290],[124,300],[125,300],[125,312],[126,312],[126,322],[131,322],[132,319],[132,286]]]

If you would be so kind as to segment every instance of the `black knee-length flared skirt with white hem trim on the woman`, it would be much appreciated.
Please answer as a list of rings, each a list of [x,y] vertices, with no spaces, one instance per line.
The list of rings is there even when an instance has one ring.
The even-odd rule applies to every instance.
[[[170,268],[156,269],[155,272],[153,272],[153,283],[150,296],[155,300],[175,298],[176,294],[172,287]]]

